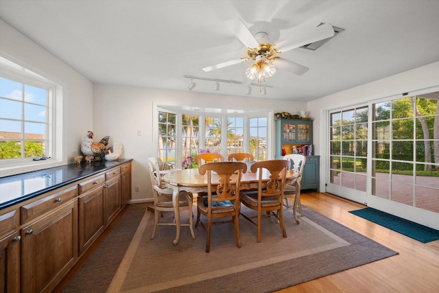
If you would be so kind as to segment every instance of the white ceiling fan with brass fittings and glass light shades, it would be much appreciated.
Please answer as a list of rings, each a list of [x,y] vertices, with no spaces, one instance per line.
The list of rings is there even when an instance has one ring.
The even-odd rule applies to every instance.
[[[308,71],[308,67],[302,66],[296,62],[279,57],[281,53],[289,51],[303,45],[330,38],[334,35],[333,26],[329,23],[319,25],[313,30],[304,32],[291,40],[283,40],[277,44],[270,44],[268,34],[266,32],[258,32],[254,36],[248,30],[241,19],[230,19],[225,21],[228,29],[237,36],[247,49],[247,56],[236,60],[222,62],[217,65],[204,67],[203,71],[213,71],[230,65],[235,65],[248,60],[254,60],[246,70],[246,77],[249,80],[257,80],[257,82],[265,82],[266,78],[270,78],[276,73],[276,67],[284,69],[296,75],[302,75]],[[258,41],[259,40],[259,41]]]

